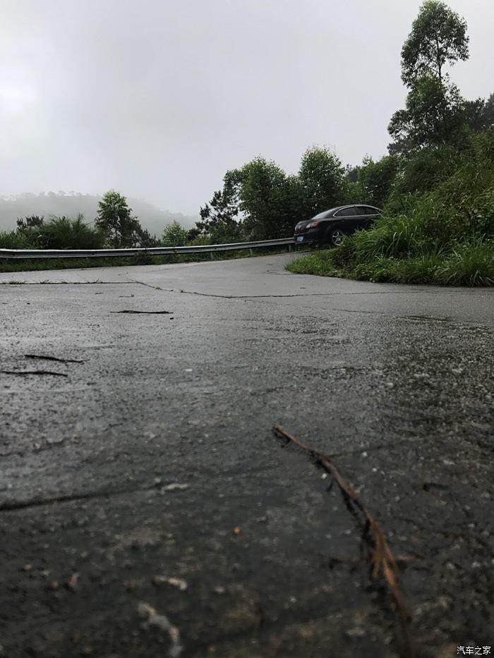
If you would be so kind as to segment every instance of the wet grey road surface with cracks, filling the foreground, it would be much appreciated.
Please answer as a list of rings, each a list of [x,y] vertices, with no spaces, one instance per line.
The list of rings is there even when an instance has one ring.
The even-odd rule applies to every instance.
[[[404,655],[274,423],[375,514],[416,654],[494,645],[494,291],[290,257],[0,274],[0,656]]]

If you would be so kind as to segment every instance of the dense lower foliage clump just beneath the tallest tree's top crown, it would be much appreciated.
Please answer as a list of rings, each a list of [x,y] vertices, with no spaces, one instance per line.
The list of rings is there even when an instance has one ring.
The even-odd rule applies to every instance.
[[[387,130],[395,144],[421,148],[460,138],[464,123],[464,100],[456,85],[426,73],[415,80],[406,108],[393,114]]]

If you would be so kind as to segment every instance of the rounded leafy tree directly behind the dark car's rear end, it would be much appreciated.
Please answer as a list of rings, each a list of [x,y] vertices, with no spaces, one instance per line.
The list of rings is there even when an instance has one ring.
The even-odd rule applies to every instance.
[[[299,169],[303,215],[313,217],[337,205],[342,196],[343,177],[344,168],[333,152],[320,147],[306,150]]]

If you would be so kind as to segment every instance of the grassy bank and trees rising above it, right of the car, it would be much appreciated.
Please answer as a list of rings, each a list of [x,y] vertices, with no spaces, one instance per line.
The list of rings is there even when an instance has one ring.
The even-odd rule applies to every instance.
[[[386,188],[382,217],[340,248],[291,263],[291,272],[494,285],[494,95],[466,101],[445,73],[468,58],[468,44],[462,18],[441,2],[423,4],[402,49],[406,108],[392,116],[390,156],[375,163],[390,174],[374,178]]]

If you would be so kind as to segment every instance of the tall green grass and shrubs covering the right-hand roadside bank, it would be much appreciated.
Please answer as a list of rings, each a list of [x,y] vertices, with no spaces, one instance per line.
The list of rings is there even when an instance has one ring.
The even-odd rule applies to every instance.
[[[425,190],[403,192],[406,169],[390,195],[382,217],[370,231],[358,231],[332,251],[318,252],[289,264],[291,272],[348,276],[371,281],[494,285],[494,132],[435,174]],[[437,150],[432,164],[441,162]],[[426,169],[427,153],[416,156]],[[431,164],[430,162],[428,163]]]

